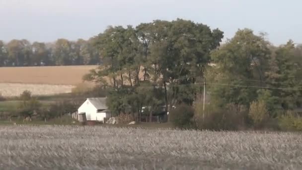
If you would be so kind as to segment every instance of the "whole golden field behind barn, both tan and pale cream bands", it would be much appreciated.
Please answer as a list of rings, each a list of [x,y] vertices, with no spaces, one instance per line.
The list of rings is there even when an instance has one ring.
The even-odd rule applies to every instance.
[[[81,84],[83,75],[97,66],[46,66],[0,68],[0,93],[18,96],[24,90],[33,95],[68,93]]]

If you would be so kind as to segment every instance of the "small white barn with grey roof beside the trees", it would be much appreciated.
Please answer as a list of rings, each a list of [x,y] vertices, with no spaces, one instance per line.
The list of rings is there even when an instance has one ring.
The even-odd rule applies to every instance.
[[[104,122],[105,118],[110,118],[111,113],[106,105],[106,98],[87,98],[77,109],[78,120]]]

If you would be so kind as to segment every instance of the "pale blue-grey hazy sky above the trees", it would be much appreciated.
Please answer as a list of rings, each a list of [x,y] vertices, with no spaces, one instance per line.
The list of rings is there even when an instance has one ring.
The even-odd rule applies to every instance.
[[[109,25],[189,19],[225,32],[266,32],[274,45],[302,43],[302,0],[0,0],[0,40],[88,39]]]

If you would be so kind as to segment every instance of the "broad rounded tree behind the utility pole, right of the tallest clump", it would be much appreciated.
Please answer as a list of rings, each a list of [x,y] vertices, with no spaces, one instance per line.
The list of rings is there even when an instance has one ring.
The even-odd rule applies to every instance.
[[[213,84],[212,97],[221,100],[221,105],[235,103],[249,106],[257,98],[257,88],[250,86],[265,87],[269,45],[264,37],[254,35],[250,29],[243,29],[212,52],[212,61],[216,64],[210,73],[212,77],[209,76]]]

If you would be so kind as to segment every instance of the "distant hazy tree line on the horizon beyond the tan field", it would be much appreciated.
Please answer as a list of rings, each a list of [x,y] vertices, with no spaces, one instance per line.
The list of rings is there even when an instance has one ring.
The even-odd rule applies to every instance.
[[[92,44],[93,39],[58,39],[54,43],[30,43],[23,39],[6,44],[0,40],[0,67],[97,65],[100,57]]]

